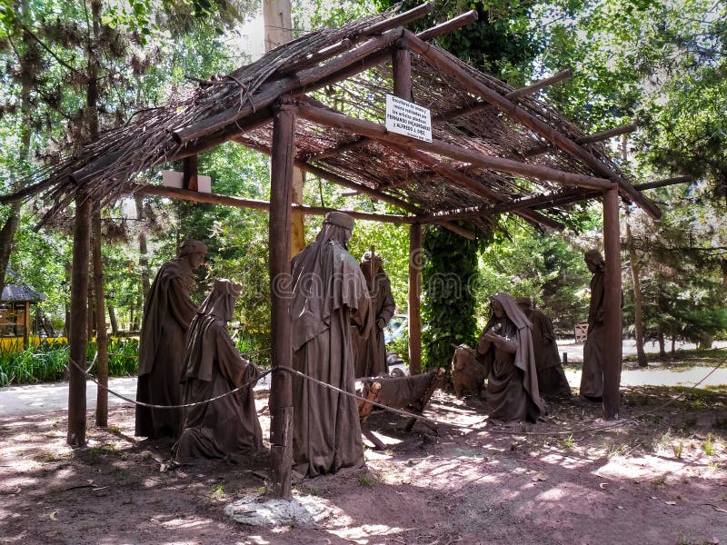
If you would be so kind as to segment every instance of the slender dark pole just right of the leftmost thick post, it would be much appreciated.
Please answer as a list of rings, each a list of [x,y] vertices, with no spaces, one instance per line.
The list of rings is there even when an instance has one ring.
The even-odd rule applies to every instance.
[[[106,304],[104,261],[101,255],[101,210],[94,213],[91,223],[94,262],[96,308],[96,363],[99,385],[96,387],[96,426],[108,426],[108,335],[106,334]]]

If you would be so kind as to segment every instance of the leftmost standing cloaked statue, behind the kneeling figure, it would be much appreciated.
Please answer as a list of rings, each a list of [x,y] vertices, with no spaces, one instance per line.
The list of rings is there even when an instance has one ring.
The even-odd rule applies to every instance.
[[[194,269],[204,263],[207,246],[190,239],[179,248],[176,259],[164,263],[144,302],[139,339],[139,380],[136,400],[155,405],[181,405],[184,337],[197,305],[189,297],[194,288]],[[181,409],[152,409],[136,405],[135,435],[157,439],[178,437],[182,431]]]

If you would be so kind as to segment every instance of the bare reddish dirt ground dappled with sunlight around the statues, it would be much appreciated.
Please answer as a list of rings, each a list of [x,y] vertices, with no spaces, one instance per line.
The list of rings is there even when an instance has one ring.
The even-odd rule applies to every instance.
[[[0,542],[727,543],[727,389],[676,399],[684,391],[623,391],[622,418],[645,416],[588,433],[578,431],[608,424],[593,403],[552,402],[523,430],[488,422],[479,398],[437,391],[425,414],[472,430],[407,433],[402,417],[373,415],[388,450],[296,484],[333,507],[314,525],[275,528],[224,515],[264,490],[266,452],[160,471],[170,443],[134,439],[130,406],[110,411],[107,430],[89,413],[76,451],[64,411],[0,419]],[[257,403],[267,437],[264,392]]]

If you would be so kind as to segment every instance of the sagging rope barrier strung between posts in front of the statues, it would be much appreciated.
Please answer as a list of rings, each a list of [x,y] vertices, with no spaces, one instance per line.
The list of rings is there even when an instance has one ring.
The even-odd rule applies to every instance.
[[[260,351],[260,352],[262,352],[262,351]],[[649,416],[649,415],[653,414],[656,411],[661,411],[663,408],[668,407],[673,402],[679,401],[680,399],[682,399],[688,393],[688,391],[682,392],[679,395],[677,395],[676,397],[674,397],[671,400],[667,401],[666,403],[663,403],[661,406],[656,407],[655,409],[652,409],[651,411],[646,411],[646,412],[643,412],[642,414],[638,414],[636,416],[633,416],[630,419],[624,419],[624,420],[620,420],[620,421],[614,421],[614,422],[611,422],[611,423],[608,423],[608,424],[603,424],[601,426],[591,426],[591,427],[583,428],[583,429],[580,429],[580,430],[566,430],[566,431],[512,431],[512,430],[493,430],[493,429],[489,429],[488,430],[488,429],[483,429],[481,427],[465,426],[463,424],[455,424],[453,422],[437,421],[437,420],[434,420],[434,419],[431,419],[431,418],[427,418],[427,417],[425,417],[425,416],[423,416],[421,414],[417,414],[415,412],[403,411],[401,409],[395,409],[393,407],[389,407],[388,405],[384,405],[383,403],[379,403],[377,401],[367,400],[364,397],[361,397],[361,396],[359,396],[359,395],[357,395],[355,393],[352,393],[350,391],[342,390],[341,388],[338,388],[338,387],[334,386],[333,384],[328,384],[327,382],[319,381],[317,379],[314,379],[311,376],[306,375],[303,372],[296,371],[296,370],[294,370],[294,369],[292,369],[290,367],[274,367],[272,369],[269,369],[266,372],[263,372],[257,378],[255,378],[254,381],[249,381],[249,382],[245,383],[243,386],[240,386],[239,388],[235,388],[234,390],[227,391],[227,392],[225,392],[225,393],[223,393],[221,395],[218,395],[218,396],[216,396],[214,398],[211,398],[209,400],[195,401],[193,403],[185,403],[183,405],[156,405],[156,404],[153,404],[153,403],[145,403],[144,401],[135,401],[135,400],[132,400],[131,398],[125,397],[124,395],[122,395],[120,393],[117,393],[117,392],[111,390],[110,388],[108,388],[104,384],[101,384],[99,381],[96,381],[93,375],[91,375],[88,372],[85,372],[84,369],[82,367],[80,367],[73,360],[70,360],[69,359],[68,361],[71,362],[71,363],[73,363],[74,366],[75,366],[75,368],[78,371],[82,372],[85,375],[86,378],[90,379],[91,381],[94,381],[98,386],[100,386],[101,388],[105,389],[106,391],[108,391],[112,395],[115,395],[115,397],[118,397],[120,399],[123,399],[124,401],[129,401],[130,403],[134,403],[134,405],[141,405],[142,407],[149,407],[149,408],[152,408],[152,409],[184,409],[186,407],[194,407],[196,405],[204,405],[204,403],[210,403],[212,401],[217,401],[217,400],[220,400],[220,399],[222,399],[224,397],[227,397],[228,395],[232,395],[233,393],[235,393],[237,391],[244,390],[245,388],[250,387],[255,382],[259,381],[260,379],[264,378],[266,375],[268,375],[268,374],[270,374],[272,372],[284,371],[284,372],[289,372],[291,374],[300,376],[300,377],[304,378],[307,381],[314,382],[315,384],[318,384],[320,386],[323,386],[324,388],[327,388],[329,390],[333,390],[333,391],[337,391],[339,393],[343,393],[344,395],[346,395],[348,397],[352,397],[355,400],[365,401],[366,403],[371,403],[374,407],[379,407],[380,409],[383,409],[383,411],[393,412],[394,414],[399,414],[399,415],[404,416],[406,418],[413,418],[415,420],[429,422],[429,423],[431,423],[431,424],[433,424],[435,426],[445,426],[445,427],[449,427],[449,428],[454,428],[454,429],[458,429],[458,430],[466,430],[466,431],[484,431],[484,432],[487,432],[487,433],[496,433],[496,434],[501,434],[501,435],[526,435],[526,436],[546,436],[546,437],[547,436],[553,436],[553,435],[582,435],[584,433],[593,433],[593,432],[597,432],[597,431],[609,430],[611,428],[616,428],[616,427],[624,426],[624,425],[628,425],[628,424],[639,424],[640,422],[637,419],[643,418],[645,416]],[[722,360],[722,362],[719,362],[712,369],[712,371],[710,371],[706,375],[704,375],[704,377],[702,377],[702,379],[700,381],[692,384],[692,386],[689,387],[690,390],[695,390],[700,384],[702,384],[703,381],[706,381],[712,375],[713,372],[716,372],[718,369],[720,369],[725,362],[727,362],[727,358],[724,358]],[[66,366],[66,368],[67,368],[67,366]]]

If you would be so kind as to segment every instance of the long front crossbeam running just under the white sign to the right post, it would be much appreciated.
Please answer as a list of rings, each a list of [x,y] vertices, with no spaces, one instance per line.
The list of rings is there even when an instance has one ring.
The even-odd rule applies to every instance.
[[[298,107],[298,114],[304,119],[317,124],[343,129],[354,134],[370,136],[376,140],[402,145],[409,149],[420,149],[433,154],[443,155],[457,161],[473,163],[495,171],[590,189],[609,189],[612,186],[612,181],[605,178],[596,178],[578,173],[566,173],[548,166],[519,163],[510,159],[503,159],[502,157],[492,157],[439,140],[434,140],[431,143],[424,142],[423,140],[414,140],[402,134],[389,133],[382,124],[374,124],[369,121],[346,117],[345,115],[336,114],[322,108],[315,108],[311,105],[300,105]]]

